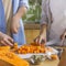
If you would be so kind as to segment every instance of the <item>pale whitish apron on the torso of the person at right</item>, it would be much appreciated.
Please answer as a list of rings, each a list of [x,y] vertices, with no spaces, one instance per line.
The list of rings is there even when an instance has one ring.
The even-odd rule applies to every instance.
[[[66,0],[51,0],[50,6],[53,15],[50,38],[59,38],[66,29]]]

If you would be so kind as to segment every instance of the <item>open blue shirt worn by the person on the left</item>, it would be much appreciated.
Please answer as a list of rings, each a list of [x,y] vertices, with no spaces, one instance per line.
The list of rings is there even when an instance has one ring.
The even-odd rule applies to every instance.
[[[13,7],[13,15],[18,12],[20,7],[24,6],[25,8],[29,8],[29,0],[12,0],[12,7]],[[0,0],[0,31],[6,33],[6,20],[4,20],[4,9],[2,6],[2,0]],[[25,35],[24,35],[24,26],[22,22],[22,18],[20,19],[20,29],[16,34],[12,34],[12,37],[14,42],[18,44],[25,44]]]

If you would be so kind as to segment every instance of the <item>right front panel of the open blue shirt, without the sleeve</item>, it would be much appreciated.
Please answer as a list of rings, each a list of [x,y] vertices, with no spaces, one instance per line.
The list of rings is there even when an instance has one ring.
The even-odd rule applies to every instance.
[[[20,0],[12,0],[13,15],[16,13],[16,11],[19,9],[19,1]],[[12,34],[12,37],[13,37],[14,42],[19,43],[19,45],[25,44],[24,26],[23,26],[22,19],[20,19],[20,29],[19,29],[18,34]]]

